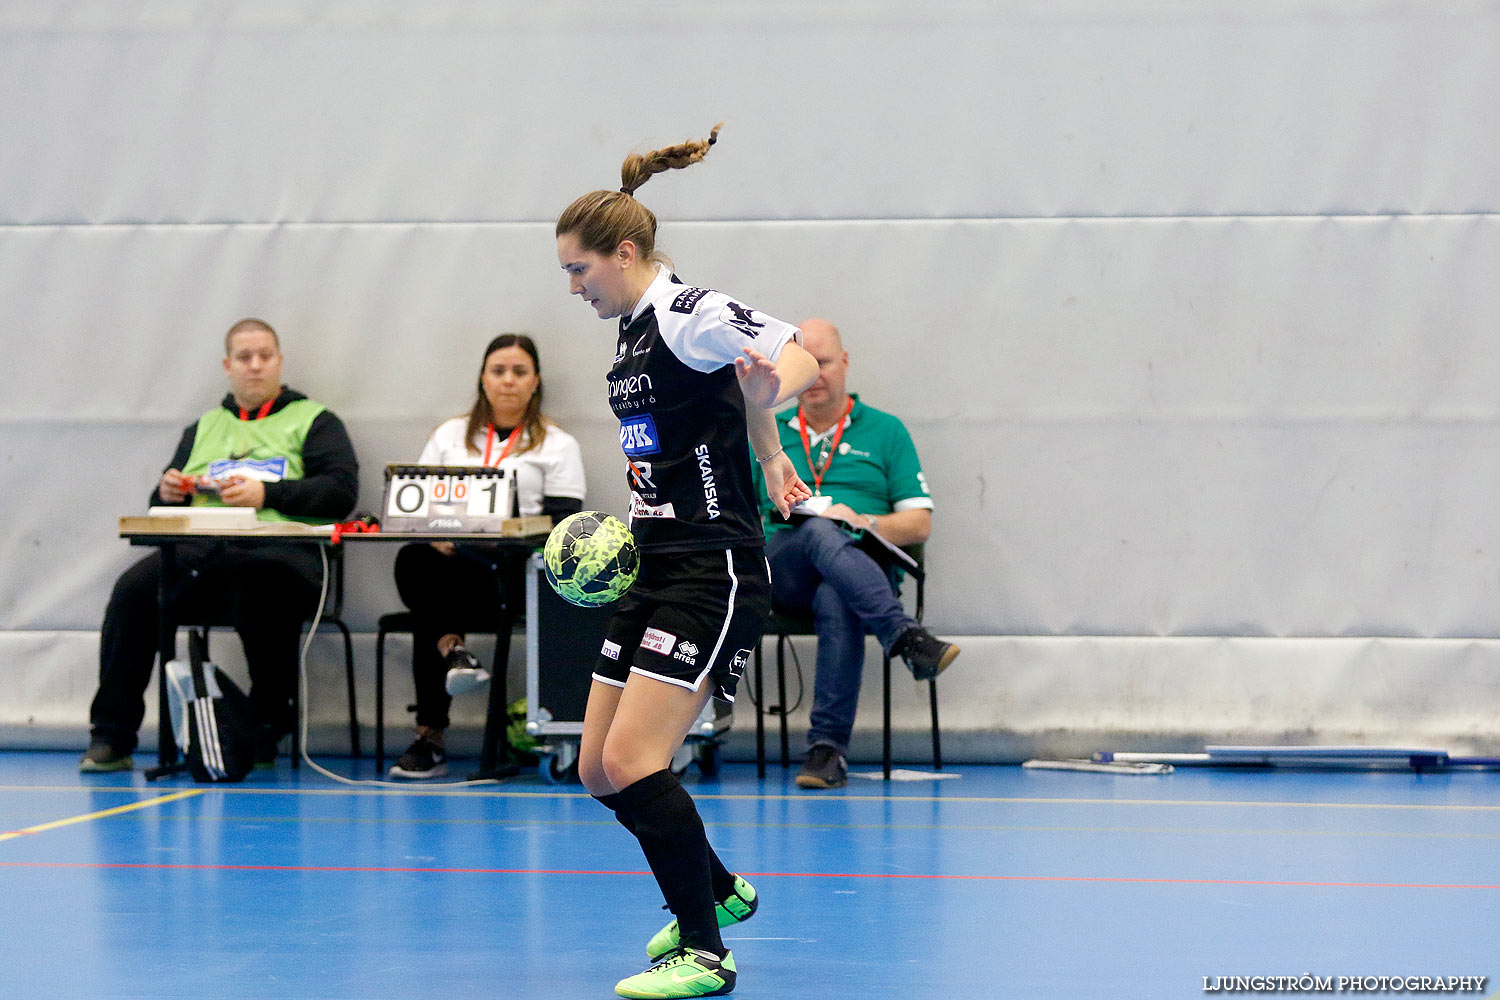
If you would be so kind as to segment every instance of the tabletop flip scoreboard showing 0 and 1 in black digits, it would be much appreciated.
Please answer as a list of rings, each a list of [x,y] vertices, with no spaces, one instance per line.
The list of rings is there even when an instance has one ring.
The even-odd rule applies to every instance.
[[[486,531],[516,517],[507,469],[474,465],[387,465],[381,531]]]

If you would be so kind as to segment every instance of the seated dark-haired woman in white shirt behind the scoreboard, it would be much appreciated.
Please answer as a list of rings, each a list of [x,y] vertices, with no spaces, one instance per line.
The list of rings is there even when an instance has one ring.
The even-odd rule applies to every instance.
[[[420,465],[483,465],[510,471],[519,516],[550,514],[554,523],[584,508],[584,456],[578,441],[542,415],[542,360],[531,337],[502,333],[484,348],[474,405],[428,438]],[[504,580],[483,546],[450,541],[402,546],[396,589],[416,619],[411,676],[417,688],[417,739],[390,769],[393,778],[447,774],[442,730],[453,694],[489,681],[464,646],[464,630],[500,618]],[[504,669],[498,664],[496,669]]]

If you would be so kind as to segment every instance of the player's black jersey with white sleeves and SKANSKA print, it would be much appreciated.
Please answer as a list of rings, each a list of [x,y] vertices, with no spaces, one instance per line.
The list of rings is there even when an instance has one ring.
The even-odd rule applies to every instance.
[[[734,361],[776,361],[796,327],[664,267],[620,321],[609,406],[620,418],[630,528],[646,552],[762,544]]]

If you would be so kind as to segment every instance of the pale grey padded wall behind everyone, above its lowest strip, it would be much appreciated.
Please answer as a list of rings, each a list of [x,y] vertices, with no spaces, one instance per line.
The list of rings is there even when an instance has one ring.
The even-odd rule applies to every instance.
[[[1494,93],[1478,0],[12,0],[0,657],[78,672],[26,690],[81,723],[92,661],[36,637],[98,628],[136,555],[114,516],[222,393],[243,315],[348,423],[366,507],[484,340],[531,331],[618,510],[610,328],[566,295],[550,220],[720,118],[640,195],[688,280],[832,318],[854,388],[908,420],[938,628],[1494,637]],[[388,558],[351,573],[369,627]],[[952,723],[1022,726],[984,703]]]

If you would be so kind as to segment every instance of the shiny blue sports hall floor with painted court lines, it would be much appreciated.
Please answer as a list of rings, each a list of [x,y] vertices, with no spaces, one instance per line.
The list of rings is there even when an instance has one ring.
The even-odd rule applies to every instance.
[[[724,934],[735,996],[1500,990],[1500,774],[951,771],[819,793],[778,768],[690,772],[762,898]],[[345,787],[284,760],[146,784],[0,753],[0,831],[8,1000],[603,999],[666,919],[634,841],[534,777]]]

